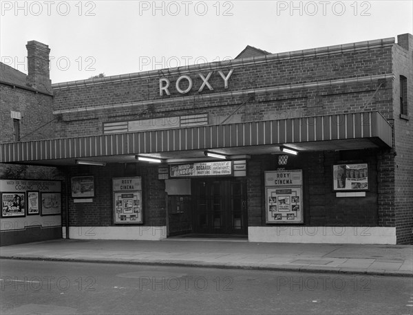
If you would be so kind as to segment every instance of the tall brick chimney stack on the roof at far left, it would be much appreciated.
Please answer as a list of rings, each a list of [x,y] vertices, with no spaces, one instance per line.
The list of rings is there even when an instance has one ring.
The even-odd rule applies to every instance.
[[[49,70],[49,46],[38,41],[28,41],[26,48],[28,50],[28,85],[34,89],[52,93]]]

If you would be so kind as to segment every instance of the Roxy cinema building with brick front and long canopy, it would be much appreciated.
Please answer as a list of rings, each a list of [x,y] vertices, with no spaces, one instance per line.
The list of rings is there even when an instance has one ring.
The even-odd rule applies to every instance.
[[[25,209],[2,177],[1,237],[37,192],[71,239],[412,243],[412,82],[402,34],[53,84],[52,133],[2,138],[0,162],[63,177]]]

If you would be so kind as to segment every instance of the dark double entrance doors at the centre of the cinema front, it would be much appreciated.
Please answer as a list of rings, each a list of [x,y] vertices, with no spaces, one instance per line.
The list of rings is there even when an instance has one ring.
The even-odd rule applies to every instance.
[[[245,180],[192,180],[192,191],[195,233],[246,235]]]

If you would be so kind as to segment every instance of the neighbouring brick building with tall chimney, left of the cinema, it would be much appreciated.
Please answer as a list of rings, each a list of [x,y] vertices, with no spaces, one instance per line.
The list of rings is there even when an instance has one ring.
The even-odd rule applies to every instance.
[[[28,49],[27,75],[0,63],[1,142],[17,144],[54,138],[56,116],[53,115],[53,91],[49,76],[50,49],[37,41],[29,41],[26,47]],[[17,188],[19,185],[28,184],[28,180],[35,180],[35,186],[39,187],[43,186],[41,182],[44,184],[48,180],[64,179],[56,168],[36,166],[35,163],[2,163],[0,179],[1,245],[61,237],[61,215],[43,217],[39,211],[26,216],[28,195],[25,189]],[[46,193],[45,190],[43,191]],[[11,194],[24,197],[21,200],[21,211],[18,211],[21,213],[12,213],[8,210],[3,212],[5,207],[8,208],[5,205],[7,202],[5,196]]]

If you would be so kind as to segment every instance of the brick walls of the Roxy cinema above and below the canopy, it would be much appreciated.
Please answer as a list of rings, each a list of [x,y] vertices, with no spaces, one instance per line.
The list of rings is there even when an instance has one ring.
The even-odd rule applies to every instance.
[[[233,123],[379,111],[392,126],[392,148],[363,147],[363,142],[356,142],[357,147],[343,149],[338,140],[336,147],[323,149],[320,143],[319,149],[301,151],[288,158],[286,165],[279,165],[277,155],[255,153],[251,146],[246,162],[248,226],[271,226],[266,224],[264,172],[301,169],[304,225],[300,226],[394,228],[397,243],[412,243],[412,35],[403,34],[397,41],[381,39],[282,54],[252,47],[244,58],[232,61],[59,83],[52,85],[55,120],[50,128],[55,138],[72,138],[102,135],[105,122],[204,113],[209,124],[220,124],[229,115]],[[226,88],[222,76],[231,72]],[[204,83],[199,74],[209,73],[213,90],[204,85],[199,91]],[[189,76],[193,83],[186,94],[178,89],[189,87],[187,78],[176,87],[182,76]],[[408,82],[404,116],[400,115],[400,76]],[[165,78],[170,95],[160,91],[160,85],[167,83],[160,79]],[[180,158],[179,152],[171,154]],[[69,199],[70,226],[114,226],[112,177],[126,175],[142,177],[144,226],[167,225],[167,194],[165,182],[158,180],[158,168],[136,164],[134,174],[125,173],[121,158],[103,168],[68,167],[67,176],[94,175],[98,183],[92,204]],[[369,190],[365,197],[337,197],[333,165],[354,161],[368,164]],[[180,229],[177,222],[173,222],[174,230]],[[182,228],[187,227],[185,221]]]

